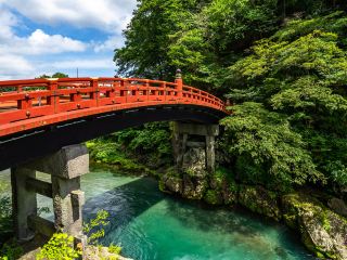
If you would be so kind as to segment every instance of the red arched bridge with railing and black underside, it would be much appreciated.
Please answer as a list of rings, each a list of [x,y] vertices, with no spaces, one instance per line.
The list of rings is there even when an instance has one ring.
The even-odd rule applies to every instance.
[[[0,81],[0,170],[150,121],[214,123],[226,115],[221,100],[180,78]]]

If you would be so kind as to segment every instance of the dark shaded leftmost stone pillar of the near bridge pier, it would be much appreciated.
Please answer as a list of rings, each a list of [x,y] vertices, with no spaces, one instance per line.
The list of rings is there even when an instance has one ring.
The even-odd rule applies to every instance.
[[[35,170],[24,167],[11,169],[14,229],[20,242],[29,240],[35,235],[28,223],[28,217],[37,214],[36,193],[26,187],[26,180],[35,177]]]

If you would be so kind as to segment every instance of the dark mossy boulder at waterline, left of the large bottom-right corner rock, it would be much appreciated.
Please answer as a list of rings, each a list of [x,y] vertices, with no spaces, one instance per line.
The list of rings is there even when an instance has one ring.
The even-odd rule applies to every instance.
[[[241,185],[239,203],[252,210],[279,221],[281,210],[275,193],[267,191],[262,186]]]

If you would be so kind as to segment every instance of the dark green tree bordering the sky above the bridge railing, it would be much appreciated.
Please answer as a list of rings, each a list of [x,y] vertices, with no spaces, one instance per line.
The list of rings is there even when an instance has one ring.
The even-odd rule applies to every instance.
[[[169,36],[196,9],[195,0],[141,0],[125,30],[126,47],[115,50],[118,73],[127,76],[168,79],[176,70],[169,62]]]

